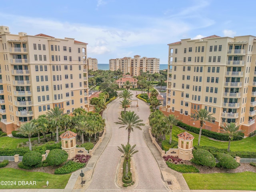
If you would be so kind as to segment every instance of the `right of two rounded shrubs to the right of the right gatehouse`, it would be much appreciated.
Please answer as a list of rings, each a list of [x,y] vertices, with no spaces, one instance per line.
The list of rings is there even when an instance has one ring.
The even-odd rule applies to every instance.
[[[226,169],[235,169],[240,166],[240,164],[236,162],[236,160],[230,154],[219,153],[217,155],[217,159],[220,166]]]

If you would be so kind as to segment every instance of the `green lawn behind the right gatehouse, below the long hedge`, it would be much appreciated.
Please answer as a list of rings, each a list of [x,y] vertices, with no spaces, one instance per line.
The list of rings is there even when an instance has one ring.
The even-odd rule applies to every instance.
[[[184,130],[178,128],[177,126],[173,126],[172,128],[172,139],[178,142],[178,138],[175,136],[181,132],[184,132]],[[197,145],[198,142],[198,134],[189,132],[194,136],[193,140],[193,146]],[[169,140],[170,136],[166,136],[166,139]],[[211,140],[206,136],[201,136],[200,140],[200,145],[201,146],[213,146],[216,148],[223,148],[227,149],[228,148],[228,141],[225,142],[220,142],[220,141],[215,141]],[[231,151],[252,151],[256,152],[256,136],[254,137],[247,137],[245,139],[242,139],[240,141],[231,141],[230,144],[230,150]]]

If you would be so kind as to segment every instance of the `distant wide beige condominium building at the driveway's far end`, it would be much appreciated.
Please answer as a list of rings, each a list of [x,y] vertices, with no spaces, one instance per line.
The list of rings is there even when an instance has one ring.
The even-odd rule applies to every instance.
[[[120,70],[123,74],[130,73],[130,75],[140,75],[140,72],[159,73],[160,59],[158,58],[140,58],[139,55],[135,55],[134,58],[124,57],[122,59],[110,59],[109,70]]]

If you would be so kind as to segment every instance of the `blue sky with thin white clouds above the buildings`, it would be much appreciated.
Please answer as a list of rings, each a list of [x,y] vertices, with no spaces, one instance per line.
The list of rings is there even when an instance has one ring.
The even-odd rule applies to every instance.
[[[168,63],[168,43],[185,38],[256,36],[249,0],[2,0],[10,32],[75,38],[98,63],[134,55]],[[15,5],[15,6],[14,6]]]

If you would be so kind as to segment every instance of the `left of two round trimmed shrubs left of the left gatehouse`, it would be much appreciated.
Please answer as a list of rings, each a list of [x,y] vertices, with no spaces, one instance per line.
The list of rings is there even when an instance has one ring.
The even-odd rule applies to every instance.
[[[31,168],[40,164],[42,166],[42,154],[36,151],[29,151],[23,156],[22,164]]]

